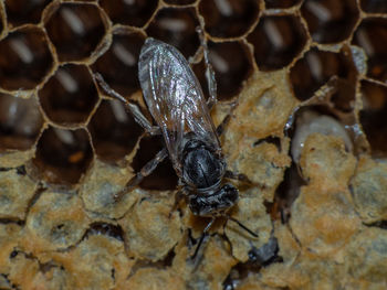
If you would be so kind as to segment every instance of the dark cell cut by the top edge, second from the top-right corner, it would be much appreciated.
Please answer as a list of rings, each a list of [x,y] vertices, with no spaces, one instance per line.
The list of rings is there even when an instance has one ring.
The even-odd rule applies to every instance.
[[[306,0],[301,12],[312,39],[318,43],[344,41],[359,17],[356,0]]]

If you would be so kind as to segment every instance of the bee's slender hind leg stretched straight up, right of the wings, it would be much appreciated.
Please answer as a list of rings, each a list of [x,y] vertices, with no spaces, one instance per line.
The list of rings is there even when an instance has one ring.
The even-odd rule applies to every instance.
[[[208,109],[211,110],[213,105],[217,104],[217,80],[215,78],[215,72],[208,56],[209,53],[208,53],[207,40],[205,36],[205,30],[202,26],[203,25],[201,24],[196,30],[199,33],[201,46],[203,47],[206,78],[207,78],[207,85],[208,85],[208,93],[210,94],[210,98],[207,100],[207,106],[208,106]]]

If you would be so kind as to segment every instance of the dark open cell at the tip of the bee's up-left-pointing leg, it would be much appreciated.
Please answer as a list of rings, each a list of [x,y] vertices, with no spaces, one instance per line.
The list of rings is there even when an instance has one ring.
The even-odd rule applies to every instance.
[[[86,66],[61,66],[39,92],[46,116],[54,122],[69,125],[84,122],[98,93]]]

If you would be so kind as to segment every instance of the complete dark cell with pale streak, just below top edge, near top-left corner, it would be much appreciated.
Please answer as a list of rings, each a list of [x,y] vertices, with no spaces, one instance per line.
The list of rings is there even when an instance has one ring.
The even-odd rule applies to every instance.
[[[44,22],[61,62],[88,57],[105,34],[101,11],[92,3],[62,3]]]

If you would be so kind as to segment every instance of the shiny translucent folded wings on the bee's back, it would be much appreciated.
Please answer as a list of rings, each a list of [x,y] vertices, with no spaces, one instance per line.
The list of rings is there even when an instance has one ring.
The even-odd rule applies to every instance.
[[[148,109],[163,130],[175,170],[180,171],[187,132],[220,150],[200,84],[174,46],[147,39],[139,55],[138,77]]]

